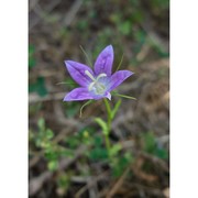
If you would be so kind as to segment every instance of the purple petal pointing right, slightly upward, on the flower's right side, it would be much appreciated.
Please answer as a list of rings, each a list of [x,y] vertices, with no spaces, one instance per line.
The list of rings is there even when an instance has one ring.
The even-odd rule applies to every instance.
[[[108,91],[111,91],[114,88],[117,88],[120,84],[122,84],[123,80],[125,80],[128,77],[130,77],[134,73],[132,73],[130,70],[119,70],[119,72],[116,72],[110,77],[110,81],[109,81],[109,85],[108,85]]]

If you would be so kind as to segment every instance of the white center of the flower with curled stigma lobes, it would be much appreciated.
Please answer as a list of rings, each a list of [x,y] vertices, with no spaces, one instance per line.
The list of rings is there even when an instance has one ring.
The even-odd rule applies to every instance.
[[[97,76],[97,78],[95,78],[95,77],[90,74],[89,70],[85,70],[85,74],[92,80],[92,81],[89,84],[89,87],[88,87],[89,91],[95,90],[95,92],[96,92],[97,95],[103,95],[105,91],[106,91],[106,86],[105,86],[102,82],[100,82],[99,79],[102,78],[102,77],[106,77],[107,74],[105,74],[105,73],[99,74],[99,75]]]

